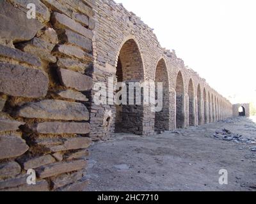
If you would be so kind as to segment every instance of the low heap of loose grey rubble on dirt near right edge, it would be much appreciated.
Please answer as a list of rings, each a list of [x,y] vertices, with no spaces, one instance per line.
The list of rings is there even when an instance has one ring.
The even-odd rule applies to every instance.
[[[232,141],[236,143],[252,144],[256,142],[254,138],[244,138],[243,135],[231,133],[231,131],[225,128],[220,131],[216,131],[212,136],[218,140]]]

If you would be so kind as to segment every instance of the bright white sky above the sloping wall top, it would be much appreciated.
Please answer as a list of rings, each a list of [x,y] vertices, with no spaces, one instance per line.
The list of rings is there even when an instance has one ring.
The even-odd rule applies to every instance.
[[[116,0],[232,103],[256,105],[255,0]]]

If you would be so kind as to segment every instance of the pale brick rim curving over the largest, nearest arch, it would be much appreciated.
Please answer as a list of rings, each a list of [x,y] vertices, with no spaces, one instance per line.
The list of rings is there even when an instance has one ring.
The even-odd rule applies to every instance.
[[[143,57],[143,52],[140,46],[140,42],[137,40],[137,38],[133,35],[129,35],[126,36],[124,38],[124,40],[122,41],[122,43],[119,45],[118,47],[118,51],[116,53],[116,59],[115,59],[115,67],[118,66],[118,58],[120,56],[120,52],[122,51],[122,48],[124,47],[125,43],[127,43],[127,41],[134,41],[134,43],[136,44],[136,47],[138,48],[138,51],[140,52],[140,57],[141,57],[141,63],[142,63],[142,68],[143,68],[143,80],[145,80],[145,61],[144,61],[144,57]]]

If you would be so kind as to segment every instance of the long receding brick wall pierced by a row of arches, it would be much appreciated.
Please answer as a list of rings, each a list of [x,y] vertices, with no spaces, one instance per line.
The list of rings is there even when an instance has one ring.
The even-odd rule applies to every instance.
[[[150,112],[149,106],[124,108],[111,104],[95,105],[91,99],[92,140],[108,140],[112,133],[118,131],[116,127],[120,125],[115,124],[116,121],[120,122],[120,115],[126,114],[124,110],[129,110],[129,115],[125,115],[125,132],[141,135],[154,133],[159,127],[159,120],[163,121],[163,118],[166,124],[162,123],[163,126],[158,128],[161,130],[204,124],[232,116],[232,104],[195,71],[184,66],[174,50],[162,48],[152,29],[134,13],[125,10],[122,4],[112,0],[97,0],[95,22],[93,82],[104,82],[107,86],[108,77],[120,78],[123,75],[124,81],[142,82],[157,81],[159,75],[167,76],[164,92],[168,94],[165,94],[164,104],[168,106],[164,107],[167,113],[159,117],[159,114]],[[157,68],[159,62],[162,63],[162,69]],[[92,91],[92,97],[96,92],[97,89]],[[108,96],[102,98],[108,101]],[[110,120],[106,122],[109,117]],[[136,121],[133,127],[131,121]]]

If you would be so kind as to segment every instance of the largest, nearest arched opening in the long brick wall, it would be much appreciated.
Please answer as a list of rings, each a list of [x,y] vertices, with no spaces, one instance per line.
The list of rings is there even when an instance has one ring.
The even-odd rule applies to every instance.
[[[140,82],[143,79],[143,62],[141,59],[140,50],[134,40],[128,40],[124,43],[118,56],[116,66],[117,82],[124,82],[127,90],[129,89],[129,82]],[[119,100],[124,99],[121,92],[121,87],[116,87]],[[127,94],[127,91],[123,93]],[[135,94],[134,94],[135,95]],[[134,133],[142,134],[143,122],[143,105],[131,105],[127,103],[116,105],[116,118],[115,118],[115,132],[116,133]],[[135,98],[135,96],[134,96]]]

